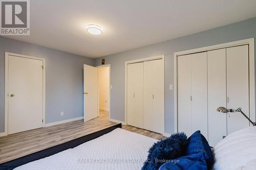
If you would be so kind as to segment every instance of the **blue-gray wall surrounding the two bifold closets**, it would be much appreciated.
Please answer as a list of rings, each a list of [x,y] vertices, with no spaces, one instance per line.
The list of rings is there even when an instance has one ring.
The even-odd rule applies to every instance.
[[[172,30],[170,30],[172,31]],[[165,132],[174,132],[174,84],[173,54],[193,48],[237,41],[256,36],[256,18],[207,30],[134,50],[105,56],[105,64],[111,64],[111,118],[124,121],[124,63],[139,58],[165,55]],[[95,64],[100,65],[101,58]]]

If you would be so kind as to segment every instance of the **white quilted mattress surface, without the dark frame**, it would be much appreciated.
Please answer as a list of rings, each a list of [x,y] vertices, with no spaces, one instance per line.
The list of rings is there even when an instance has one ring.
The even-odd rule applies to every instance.
[[[154,142],[157,140],[117,128],[73,149],[15,169],[141,169]]]

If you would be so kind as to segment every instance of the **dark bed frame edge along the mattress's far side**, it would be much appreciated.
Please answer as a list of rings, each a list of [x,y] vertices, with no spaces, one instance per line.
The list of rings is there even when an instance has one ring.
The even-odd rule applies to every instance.
[[[0,170],[14,169],[14,168],[16,168],[18,166],[21,166],[21,165],[24,165],[26,163],[29,163],[29,162],[32,162],[32,161],[35,161],[35,160],[38,160],[38,159],[42,159],[42,158],[54,155],[56,153],[59,153],[61,151],[65,151],[65,150],[70,149],[70,148],[75,148],[75,147],[77,147],[78,145],[80,145],[84,142],[87,142],[89,140],[100,137],[100,136],[102,136],[106,133],[109,133],[109,132],[113,131],[116,128],[122,128],[122,124],[117,124],[117,125],[111,126],[109,128],[100,130],[98,132],[94,132],[94,133],[88,134],[86,136],[82,136],[82,137],[73,139],[71,141],[68,141],[68,142],[65,142],[65,143],[62,143],[62,144],[58,144],[55,147],[51,147],[51,148],[48,148],[48,149],[45,149],[45,150],[41,150],[41,151],[35,152],[33,154],[29,154],[29,155],[26,155],[26,156],[23,156],[23,157],[20,157],[20,158],[2,163],[2,164],[0,164]],[[20,146],[20,147],[22,147],[22,146]]]

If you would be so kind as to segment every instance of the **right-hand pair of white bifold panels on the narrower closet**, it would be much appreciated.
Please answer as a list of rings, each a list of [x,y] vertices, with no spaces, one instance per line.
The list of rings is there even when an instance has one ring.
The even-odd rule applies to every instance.
[[[164,60],[144,62],[143,129],[164,133]]]

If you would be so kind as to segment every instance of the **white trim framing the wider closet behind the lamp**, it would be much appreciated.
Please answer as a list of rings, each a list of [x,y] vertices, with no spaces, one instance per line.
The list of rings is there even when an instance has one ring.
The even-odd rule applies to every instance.
[[[174,53],[174,132],[178,132],[178,87],[177,87],[177,57],[186,54],[200,53],[210,50],[217,50],[220,48],[226,48],[238,45],[249,45],[249,109],[250,119],[255,121],[255,77],[254,77],[254,38],[232,41],[217,45],[205,46],[201,48],[195,48],[192,50],[186,50],[182,52]],[[251,125],[250,125],[251,126]]]

